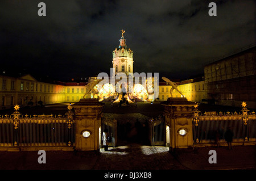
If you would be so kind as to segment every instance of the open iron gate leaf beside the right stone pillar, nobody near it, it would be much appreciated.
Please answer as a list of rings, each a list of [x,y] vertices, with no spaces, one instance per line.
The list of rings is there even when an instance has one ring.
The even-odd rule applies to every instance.
[[[151,146],[166,145],[166,123],[164,117],[149,121]]]

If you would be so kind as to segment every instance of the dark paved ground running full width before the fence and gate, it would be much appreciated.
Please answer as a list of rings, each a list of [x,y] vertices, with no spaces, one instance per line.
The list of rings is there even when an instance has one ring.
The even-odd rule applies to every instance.
[[[209,150],[216,150],[217,163],[210,164]],[[38,163],[38,151],[0,151],[0,170],[256,170],[256,146],[205,147],[176,150],[165,146],[127,144],[95,151],[46,151],[46,164]]]

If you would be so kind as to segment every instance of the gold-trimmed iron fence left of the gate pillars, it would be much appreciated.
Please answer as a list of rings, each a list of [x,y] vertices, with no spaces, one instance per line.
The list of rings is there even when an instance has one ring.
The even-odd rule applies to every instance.
[[[0,118],[0,146],[74,146],[74,113],[23,116],[15,106],[10,116]]]

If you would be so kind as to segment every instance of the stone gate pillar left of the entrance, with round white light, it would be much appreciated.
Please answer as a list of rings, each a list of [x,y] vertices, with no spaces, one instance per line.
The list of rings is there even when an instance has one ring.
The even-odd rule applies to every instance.
[[[100,150],[99,128],[104,105],[98,99],[80,99],[72,105],[76,120],[76,150]]]

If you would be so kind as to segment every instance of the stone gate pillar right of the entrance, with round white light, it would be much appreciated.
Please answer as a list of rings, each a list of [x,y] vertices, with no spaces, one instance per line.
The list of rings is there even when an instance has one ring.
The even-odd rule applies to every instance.
[[[161,104],[166,124],[170,127],[170,151],[193,146],[192,109],[196,103],[187,98],[168,98]]]

